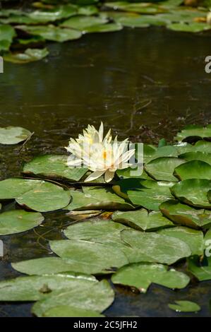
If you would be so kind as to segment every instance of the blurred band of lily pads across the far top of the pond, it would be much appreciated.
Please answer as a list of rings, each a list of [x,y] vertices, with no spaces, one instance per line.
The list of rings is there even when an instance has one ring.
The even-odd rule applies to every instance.
[[[193,4],[195,6],[195,4]],[[85,33],[164,26],[181,32],[211,29],[210,1],[198,8],[183,0],[151,2],[40,1],[25,9],[0,11],[0,52],[6,61],[24,64],[47,57],[47,41],[77,40]]]

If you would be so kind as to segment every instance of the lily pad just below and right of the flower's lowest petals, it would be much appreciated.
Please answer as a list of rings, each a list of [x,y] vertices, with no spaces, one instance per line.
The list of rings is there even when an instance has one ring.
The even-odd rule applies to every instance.
[[[143,180],[141,184],[143,184],[142,189],[127,191],[128,197],[135,205],[143,206],[148,210],[159,211],[160,203],[172,198],[170,188],[174,185],[174,182]]]

